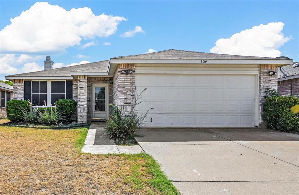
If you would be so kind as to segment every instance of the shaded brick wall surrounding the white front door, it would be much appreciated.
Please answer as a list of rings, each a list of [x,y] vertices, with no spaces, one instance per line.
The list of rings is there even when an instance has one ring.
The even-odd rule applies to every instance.
[[[109,79],[112,79],[112,77],[88,77],[87,78],[87,122],[91,121],[91,114],[92,114],[92,108],[91,108],[91,93],[92,93],[92,84],[97,83],[105,83],[108,84],[108,95],[109,95],[109,104],[112,103],[112,97],[113,97],[113,84],[109,83]],[[109,106],[109,113],[110,113],[110,106]]]

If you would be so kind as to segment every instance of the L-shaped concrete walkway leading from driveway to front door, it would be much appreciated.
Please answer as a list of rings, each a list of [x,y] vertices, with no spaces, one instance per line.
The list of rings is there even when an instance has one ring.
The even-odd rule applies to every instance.
[[[108,137],[106,123],[91,123],[82,152],[91,154],[138,154],[143,150],[140,146],[117,146]]]

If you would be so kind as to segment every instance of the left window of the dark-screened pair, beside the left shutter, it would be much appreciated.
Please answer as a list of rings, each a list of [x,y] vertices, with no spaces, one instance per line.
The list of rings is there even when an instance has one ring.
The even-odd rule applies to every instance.
[[[47,102],[47,81],[32,81],[32,104],[44,106]]]

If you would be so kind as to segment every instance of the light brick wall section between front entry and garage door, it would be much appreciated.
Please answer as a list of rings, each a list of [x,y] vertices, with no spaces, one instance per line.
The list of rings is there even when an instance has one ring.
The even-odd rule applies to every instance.
[[[122,74],[122,70],[132,70],[132,74]],[[135,103],[135,64],[118,64],[113,77],[113,103],[123,113],[131,111]]]

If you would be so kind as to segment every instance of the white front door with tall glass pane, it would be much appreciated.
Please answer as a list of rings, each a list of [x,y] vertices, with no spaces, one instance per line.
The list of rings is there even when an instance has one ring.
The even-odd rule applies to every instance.
[[[92,85],[92,119],[102,119],[108,117],[108,85]]]

